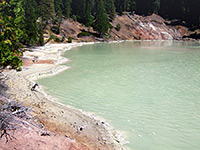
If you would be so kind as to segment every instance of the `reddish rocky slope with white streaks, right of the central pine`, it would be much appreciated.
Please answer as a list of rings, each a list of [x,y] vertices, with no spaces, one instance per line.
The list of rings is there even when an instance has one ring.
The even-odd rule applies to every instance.
[[[126,13],[116,17],[113,26],[117,24],[120,24],[122,28],[119,32],[116,30],[113,32],[124,40],[177,40],[182,39],[187,31],[182,26],[166,25],[165,20],[156,14],[142,17]],[[118,39],[115,34],[112,36]]]

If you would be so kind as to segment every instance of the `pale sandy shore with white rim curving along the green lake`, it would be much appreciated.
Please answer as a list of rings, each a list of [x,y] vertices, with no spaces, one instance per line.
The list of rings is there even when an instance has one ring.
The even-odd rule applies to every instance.
[[[68,69],[69,67],[66,65],[61,65],[68,61],[62,57],[62,54],[66,50],[83,44],[47,44],[26,51],[22,57],[24,61],[22,71],[3,72],[6,78],[4,84],[7,87],[2,88],[1,94],[33,107],[33,116],[41,128],[68,137],[77,143],[79,149],[123,149],[118,133],[105,121],[58,103],[54,97],[45,93],[41,86],[36,87],[35,91],[31,91],[31,87],[38,78],[55,75]],[[36,58],[35,63],[33,62],[34,57]]]

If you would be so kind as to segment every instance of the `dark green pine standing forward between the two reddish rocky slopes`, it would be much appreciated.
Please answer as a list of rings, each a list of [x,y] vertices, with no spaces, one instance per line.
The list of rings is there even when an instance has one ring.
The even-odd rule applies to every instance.
[[[95,19],[94,30],[99,33],[100,37],[103,37],[108,32],[110,24],[102,0],[96,0]]]

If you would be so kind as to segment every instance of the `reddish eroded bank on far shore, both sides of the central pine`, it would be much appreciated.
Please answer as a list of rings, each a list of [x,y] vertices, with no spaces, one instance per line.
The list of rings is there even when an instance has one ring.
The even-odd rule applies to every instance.
[[[123,16],[116,16],[111,23],[114,27],[110,31],[110,38],[107,40],[181,40],[188,34],[188,29],[181,25],[168,25],[168,23],[159,15],[150,16],[130,15],[124,13]],[[116,30],[117,24],[121,29]],[[78,37],[82,31],[95,33],[90,27],[74,22],[72,19],[64,20],[61,24],[61,35],[72,37],[73,41],[97,41],[99,39],[93,36]]]

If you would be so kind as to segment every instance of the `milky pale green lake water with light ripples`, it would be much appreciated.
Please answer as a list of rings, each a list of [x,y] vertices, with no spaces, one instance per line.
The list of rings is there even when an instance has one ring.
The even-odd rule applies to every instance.
[[[105,118],[131,150],[200,149],[200,44],[123,42],[67,51],[39,80],[60,102]]]

